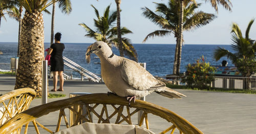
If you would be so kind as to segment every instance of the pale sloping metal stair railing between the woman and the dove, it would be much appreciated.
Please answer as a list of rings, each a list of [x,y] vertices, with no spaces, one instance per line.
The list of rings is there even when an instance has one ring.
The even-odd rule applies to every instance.
[[[77,63],[69,60],[66,57],[63,57],[64,61],[64,65],[68,66],[69,68],[73,69],[74,71],[78,72],[81,74],[81,80],[83,81],[83,76],[86,76],[90,81],[93,82],[102,82],[102,78],[97,76],[96,74],[88,71],[87,69],[81,67],[80,65],[78,65]]]

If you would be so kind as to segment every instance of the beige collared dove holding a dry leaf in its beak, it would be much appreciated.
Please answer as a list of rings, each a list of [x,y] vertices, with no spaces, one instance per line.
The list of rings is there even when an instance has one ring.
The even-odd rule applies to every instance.
[[[106,87],[114,94],[126,97],[131,101],[156,92],[168,98],[185,96],[156,79],[139,63],[117,56],[109,45],[103,41],[96,41],[87,48],[86,60],[90,63],[90,55],[95,53],[101,63],[101,76]]]

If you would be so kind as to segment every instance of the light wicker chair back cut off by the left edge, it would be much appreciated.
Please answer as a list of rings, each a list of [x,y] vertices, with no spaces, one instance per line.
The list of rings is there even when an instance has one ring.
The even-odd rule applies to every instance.
[[[36,92],[31,88],[13,90],[0,96],[0,125],[27,110],[35,96]]]

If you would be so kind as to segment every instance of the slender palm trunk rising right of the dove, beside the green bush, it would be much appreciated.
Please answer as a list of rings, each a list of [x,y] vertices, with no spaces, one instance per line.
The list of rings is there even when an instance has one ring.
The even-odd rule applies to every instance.
[[[180,1],[180,17],[179,17],[179,29],[178,29],[178,42],[176,44],[175,51],[175,61],[174,61],[174,74],[180,73],[180,64],[181,64],[181,50],[182,50],[182,42],[183,42],[183,12],[184,12],[184,0]]]

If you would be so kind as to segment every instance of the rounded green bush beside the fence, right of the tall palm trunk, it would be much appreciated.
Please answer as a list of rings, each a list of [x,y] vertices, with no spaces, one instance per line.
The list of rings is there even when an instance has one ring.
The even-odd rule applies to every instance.
[[[190,88],[204,89],[207,84],[214,81],[213,73],[216,68],[206,63],[203,56],[196,60],[196,63],[189,63],[186,69],[186,76],[182,78],[182,83],[186,83]]]

